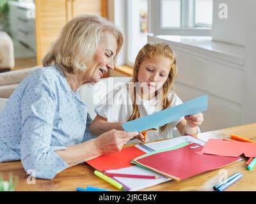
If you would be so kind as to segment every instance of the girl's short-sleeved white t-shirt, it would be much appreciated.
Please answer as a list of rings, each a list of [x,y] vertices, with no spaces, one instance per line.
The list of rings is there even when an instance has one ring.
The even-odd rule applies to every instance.
[[[130,89],[131,90],[131,89]],[[170,107],[182,104],[179,96],[170,91],[168,98],[172,99]],[[145,100],[136,95],[136,101],[140,111],[140,117],[151,115],[152,113],[162,110],[161,103],[156,98]],[[160,105],[159,105],[160,104]],[[129,83],[120,85],[110,91],[96,106],[95,113],[107,119],[108,122],[127,122],[132,114],[132,97],[129,92]],[[160,127],[156,131],[147,132],[147,142],[153,140],[161,140],[172,138],[172,129],[184,119],[184,117],[167,124],[163,132]]]

